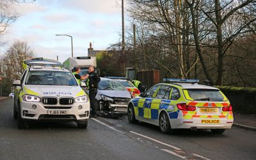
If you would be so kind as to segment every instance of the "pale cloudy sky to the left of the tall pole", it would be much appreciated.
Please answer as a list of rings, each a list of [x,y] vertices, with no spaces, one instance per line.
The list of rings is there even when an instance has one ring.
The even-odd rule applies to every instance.
[[[71,56],[87,56],[90,42],[95,50],[104,50],[118,42],[122,31],[121,0],[36,0],[15,4],[19,18],[6,30],[0,54],[15,40],[28,43],[37,57],[63,62]]]

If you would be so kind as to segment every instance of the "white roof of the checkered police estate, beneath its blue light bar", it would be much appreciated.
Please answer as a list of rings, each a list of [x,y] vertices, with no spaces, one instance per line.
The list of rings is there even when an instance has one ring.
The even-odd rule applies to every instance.
[[[205,89],[205,90],[220,90],[218,88],[215,88],[213,86],[207,86],[203,84],[198,84],[198,83],[160,83],[160,84],[174,84],[177,86],[180,86],[182,89]]]

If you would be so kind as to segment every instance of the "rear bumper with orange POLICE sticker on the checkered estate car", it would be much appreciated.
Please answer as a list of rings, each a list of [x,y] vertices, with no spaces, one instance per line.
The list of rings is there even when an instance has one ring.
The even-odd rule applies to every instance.
[[[207,123],[202,123],[202,120]],[[197,129],[230,129],[232,127],[233,120],[225,118],[204,118],[193,120],[170,119],[170,124],[173,129],[190,129],[191,127],[196,127]]]

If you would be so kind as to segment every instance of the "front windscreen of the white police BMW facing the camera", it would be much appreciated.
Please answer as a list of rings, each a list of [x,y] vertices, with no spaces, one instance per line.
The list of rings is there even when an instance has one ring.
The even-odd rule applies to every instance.
[[[70,72],[36,70],[28,72],[25,84],[77,86],[76,79]]]

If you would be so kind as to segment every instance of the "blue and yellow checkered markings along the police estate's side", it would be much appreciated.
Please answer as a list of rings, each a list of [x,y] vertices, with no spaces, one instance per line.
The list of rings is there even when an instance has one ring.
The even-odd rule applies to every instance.
[[[136,116],[158,120],[159,111],[166,110],[170,118],[178,118],[179,110],[176,106],[170,108],[172,100],[168,99],[132,99],[134,113]]]

